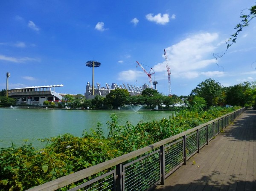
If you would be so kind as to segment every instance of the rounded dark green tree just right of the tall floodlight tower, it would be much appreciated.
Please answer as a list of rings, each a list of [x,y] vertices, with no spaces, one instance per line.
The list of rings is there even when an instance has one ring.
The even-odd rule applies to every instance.
[[[121,107],[122,105],[128,103],[128,97],[130,96],[127,89],[114,89],[109,92],[106,96],[109,104],[113,106],[113,108]]]

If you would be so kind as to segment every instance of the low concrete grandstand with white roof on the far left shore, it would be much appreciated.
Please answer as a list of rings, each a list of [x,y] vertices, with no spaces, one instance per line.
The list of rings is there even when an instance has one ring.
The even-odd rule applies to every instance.
[[[61,101],[62,96],[55,92],[55,87],[63,87],[63,85],[16,88],[8,90],[8,96],[16,98],[17,105],[24,104],[43,106],[44,101],[55,103]]]

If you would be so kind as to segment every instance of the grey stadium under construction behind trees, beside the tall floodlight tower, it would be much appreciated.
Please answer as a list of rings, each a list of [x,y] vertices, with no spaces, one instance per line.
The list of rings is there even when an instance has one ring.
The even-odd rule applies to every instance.
[[[84,96],[86,97],[86,99],[93,99],[96,95],[100,95],[102,97],[106,97],[106,95],[109,94],[109,92],[111,90],[114,89],[127,89],[129,94],[131,96],[135,96],[135,95],[140,95],[141,91],[143,91],[145,88],[149,88],[147,84],[143,84],[142,87],[139,86],[135,86],[135,85],[130,85],[130,84],[125,84],[122,83],[120,85],[117,85],[116,83],[112,83],[111,86],[108,83],[105,83],[104,87],[101,87],[99,83],[96,83],[97,87],[93,87],[90,85],[89,82],[87,82],[86,85],[86,91],[84,93]],[[93,95],[93,90],[94,90],[94,95]]]

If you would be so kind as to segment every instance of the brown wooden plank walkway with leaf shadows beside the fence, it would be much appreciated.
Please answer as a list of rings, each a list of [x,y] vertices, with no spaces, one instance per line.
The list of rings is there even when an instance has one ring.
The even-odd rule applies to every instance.
[[[154,191],[256,191],[256,111],[233,124]]]

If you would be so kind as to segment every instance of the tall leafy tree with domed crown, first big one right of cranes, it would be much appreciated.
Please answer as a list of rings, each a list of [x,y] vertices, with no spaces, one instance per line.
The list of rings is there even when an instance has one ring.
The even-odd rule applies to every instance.
[[[198,86],[191,91],[191,95],[203,97],[207,102],[207,107],[220,105],[216,100],[219,100],[219,98],[222,97],[222,87],[218,81],[209,78],[198,84]]]

